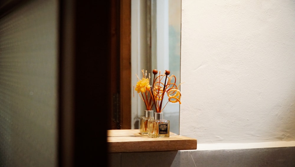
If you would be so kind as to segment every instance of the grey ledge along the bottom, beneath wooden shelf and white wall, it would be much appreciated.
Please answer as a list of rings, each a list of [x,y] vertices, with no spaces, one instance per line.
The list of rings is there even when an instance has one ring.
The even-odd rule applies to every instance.
[[[294,167],[295,147],[112,153],[110,166]]]

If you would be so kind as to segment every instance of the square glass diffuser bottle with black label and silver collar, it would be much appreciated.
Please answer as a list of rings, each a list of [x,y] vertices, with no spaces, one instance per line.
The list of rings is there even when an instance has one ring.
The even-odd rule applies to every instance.
[[[155,112],[155,119],[148,121],[148,137],[169,137],[170,121],[163,119],[163,113]]]

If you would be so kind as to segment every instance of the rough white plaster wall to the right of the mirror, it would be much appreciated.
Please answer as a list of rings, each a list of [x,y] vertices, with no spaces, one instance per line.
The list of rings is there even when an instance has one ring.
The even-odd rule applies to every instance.
[[[182,0],[180,135],[295,140],[295,1]]]

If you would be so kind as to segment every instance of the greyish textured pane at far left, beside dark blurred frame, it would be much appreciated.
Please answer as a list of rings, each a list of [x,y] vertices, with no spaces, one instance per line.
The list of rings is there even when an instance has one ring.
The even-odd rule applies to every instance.
[[[0,18],[0,166],[57,165],[58,6]]]

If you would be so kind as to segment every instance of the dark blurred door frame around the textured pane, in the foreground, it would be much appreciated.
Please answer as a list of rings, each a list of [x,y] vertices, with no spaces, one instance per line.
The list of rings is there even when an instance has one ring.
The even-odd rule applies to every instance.
[[[1,1],[0,19],[32,1],[41,0]],[[52,1],[59,12],[58,166],[106,164],[111,3]]]

